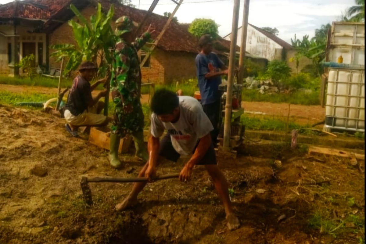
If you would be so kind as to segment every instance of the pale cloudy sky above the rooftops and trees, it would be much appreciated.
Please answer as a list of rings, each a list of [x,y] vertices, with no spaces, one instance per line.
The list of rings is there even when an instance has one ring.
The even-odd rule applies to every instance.
[[[11,0],[0,0],[0,4]],[[178,0],[177,0],[178,1]],[[206,3],[195,3],[203,2]],[[240,0],[239,27],[242,25],[244,0]],[[136,8],[148,10],[152,0],[132,0]],[[354,0],[251,0],[249,23],[257,27],[276,27],[279,37],[291,44],[291,38],[314,36],[321,25],[339,20]],[[173,12],[176,4],[160,0],[154,13]],[[209,18],[219,25],[219,34],[231,33],[234,0],[184,0],[175,16],[180,23],[191,23],[195,18]]]

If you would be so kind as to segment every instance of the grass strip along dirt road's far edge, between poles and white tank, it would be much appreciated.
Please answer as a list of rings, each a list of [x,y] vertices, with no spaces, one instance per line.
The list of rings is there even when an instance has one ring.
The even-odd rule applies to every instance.
[[[242,100],[248,102],[273,102],[273,103],[291,103],[301,105],[320,105],[319,91],[305,93],[303,91],[295,91],[291,94],[273,93],[261,94],[255,89],[243,89]]]

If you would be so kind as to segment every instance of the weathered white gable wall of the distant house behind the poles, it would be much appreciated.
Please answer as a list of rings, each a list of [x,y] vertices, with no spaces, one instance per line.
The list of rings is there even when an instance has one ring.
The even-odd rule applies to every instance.
[[[231,35],[225,37],[226,40],[231,40]],[[242,41],[242,28],[238,29],[238,38],[236,45],[240,46]],[[245,50],[253,56],[262,57],[272,61],[275,59],[275,50],[283,47],[271,38],[266,37],[252,26],[248,25],[247,30],[247,45]]]

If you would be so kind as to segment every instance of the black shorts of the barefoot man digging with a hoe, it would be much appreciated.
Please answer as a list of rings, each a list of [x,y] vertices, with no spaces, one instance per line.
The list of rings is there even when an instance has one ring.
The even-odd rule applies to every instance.
[[[195,146],[193,153],[196,150],[197,146],[198,143]],[[163,139],[161,139],[160,141],[159,156],[164,157],[173,162],[178,161],[180,157],[180,154],[173,147],[172,140],[169,134],[165,135]],[[217,164],[213,143],[211,143],[210,147],[206,151],[205,156],[203,156],[203,158],[201,159],[201,161],[198,162],[197,165],[208,165],[208,164]]]

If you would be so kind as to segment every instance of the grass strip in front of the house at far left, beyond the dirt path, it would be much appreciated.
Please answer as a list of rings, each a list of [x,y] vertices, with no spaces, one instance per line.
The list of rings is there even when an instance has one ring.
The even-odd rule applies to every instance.
[[[28,77],[9,77],[0,76],[0,84],[6,85],[23,85],[23,86],[44,86],[44,87],[58,87],[59,79],[48,78],[45,76],[36,76],[33,79]],[[62,87],[71,87],[72,79],[63,78]]]

